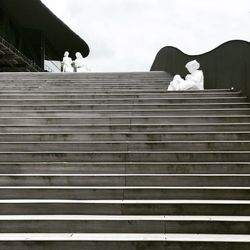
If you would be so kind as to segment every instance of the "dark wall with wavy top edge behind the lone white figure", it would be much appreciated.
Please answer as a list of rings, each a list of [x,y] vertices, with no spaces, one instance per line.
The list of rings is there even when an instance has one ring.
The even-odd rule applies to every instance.
[[[185,64],[198,60],[205,75],[205,88],[221,89],[234,87],[250,97],[250,43],[234,40],[201,55],[187,55],[177,48],[162,48],[151,71],[164,70],[172,75],[187,74]]]

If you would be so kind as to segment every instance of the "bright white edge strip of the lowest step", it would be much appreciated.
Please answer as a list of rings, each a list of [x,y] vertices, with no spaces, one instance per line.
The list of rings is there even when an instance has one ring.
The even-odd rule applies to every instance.
[[[250,242],[250,235],[241,234],[81,234],[81,233],[1,233],[0,241],[107,241],[107,242]]]

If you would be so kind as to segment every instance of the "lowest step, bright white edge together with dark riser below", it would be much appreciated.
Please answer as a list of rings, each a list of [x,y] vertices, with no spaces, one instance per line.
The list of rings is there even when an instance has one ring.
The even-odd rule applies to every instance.
[[[136,250],[248,250],[248,235],[209,234],[7,234],[0,238],[4,250],[120,249]],[[48,240],[50,239],[50,240]]]

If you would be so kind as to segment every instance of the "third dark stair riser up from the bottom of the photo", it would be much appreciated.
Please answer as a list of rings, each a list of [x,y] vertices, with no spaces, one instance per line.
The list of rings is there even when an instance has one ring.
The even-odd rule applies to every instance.
[[[5,203],[1,215],[222,215],[249,216],[249,204]]]

